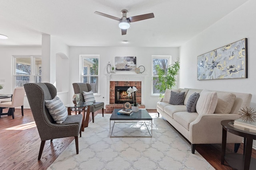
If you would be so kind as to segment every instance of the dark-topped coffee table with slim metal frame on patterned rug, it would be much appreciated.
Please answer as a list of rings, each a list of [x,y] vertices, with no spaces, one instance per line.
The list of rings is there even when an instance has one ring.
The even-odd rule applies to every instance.
[[[132,115],[119,115],[118,111],[120,109],[114,109],[112,112],[112,115],[110,117],[110,123],[109,123],[109,131],[110,131],[110,137],[152,137],[152,117],[148,114],[148,111],[146,109],[139,109],[138,112],[134,112]],[[111,130],[111,121],[114,121],[114,124],[112,126]],[[151,131],[148,129],[148,126],[146,125],[145,121],[151,121]],[[143,124],[147,127],[149,136],[112,136],[112,132],[114,129],[115,123],[133,123],[133,122],[143,122]],[[142,124],[142,125],[143,125]]]

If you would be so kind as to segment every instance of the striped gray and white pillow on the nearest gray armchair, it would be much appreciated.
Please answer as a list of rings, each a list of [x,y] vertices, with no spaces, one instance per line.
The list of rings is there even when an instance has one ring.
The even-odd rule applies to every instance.
[[[68,117],[68,110],[57,96],[52,100],[46,100],[45,106],[56,123],[62,123]]]

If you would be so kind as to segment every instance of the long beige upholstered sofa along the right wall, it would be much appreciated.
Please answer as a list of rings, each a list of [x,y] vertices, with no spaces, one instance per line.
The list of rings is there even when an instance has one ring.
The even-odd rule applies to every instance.
[[[185,92],[183,105],[169,104],[171,93],[173,94],[171,91],[177,94]],[[196,111],[189,113],[186,105],[188,105],[189,97],[194,93],[199,93],[200,96],[196,103]],[[212,93],[212,96],[207,98],[205,93]],[[216,94],[218,96],[217,102]],[[191,143],[191,150],[194,154],[196,144],[222,143],[222,125],[220,122],[226,119],[239,119],[238,111],[242,107],[249,107],[251,98],[252,94],[236,92],[213,92],[188,88],[166,89],[164,98],[157,103],[157,111],[158,116],[161,114]],[[207,103],[208,106],[205,106]],[[213,113],[209,113],[209,108],[213,109]],[[199,110],[200,113],[197,113]],[[227,143],[240,144],[241,142],[242,137],[228,133]]]

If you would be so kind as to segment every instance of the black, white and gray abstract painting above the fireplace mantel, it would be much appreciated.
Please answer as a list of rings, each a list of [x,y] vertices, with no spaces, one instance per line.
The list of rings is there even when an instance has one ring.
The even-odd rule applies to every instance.
[[[115,67],[118,71],[135,71],[136,57],[115,57]]]

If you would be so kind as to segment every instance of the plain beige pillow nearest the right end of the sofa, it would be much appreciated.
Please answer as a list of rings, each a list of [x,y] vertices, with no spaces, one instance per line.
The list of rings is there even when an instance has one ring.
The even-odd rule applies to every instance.
[[[217,92],[218,103],[214,113],[230,113],[233,104],[236,99],[236,95],[233,93]]]

